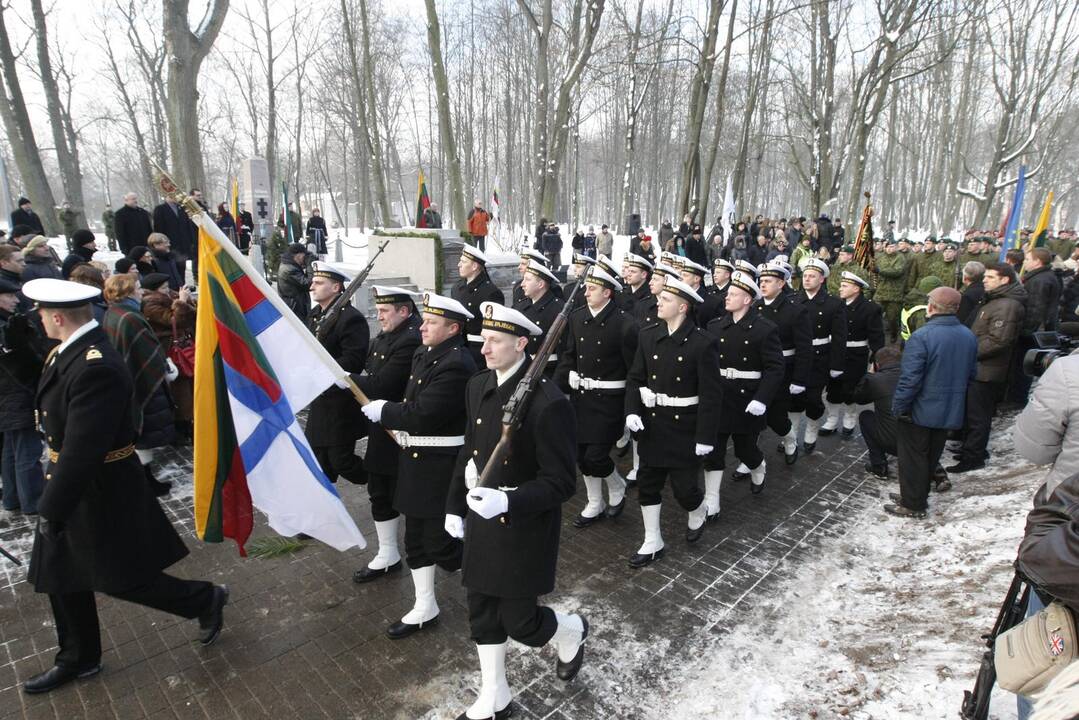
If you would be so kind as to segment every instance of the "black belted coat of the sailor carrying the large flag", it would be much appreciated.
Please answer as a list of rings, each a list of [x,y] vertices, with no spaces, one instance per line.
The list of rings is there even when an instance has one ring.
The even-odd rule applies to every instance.
[[[421,345],[412,356],[405,399],[387,403],[382,426],[410,435],[453,437],[465,434],[465,385],[476,363],[453,336],[435,348]],[[373,434],[373,431],[371,432]],[[400,453],[394,510],[411,517],[440,518],[461,446],[408,447]],[[369,467],[375,471],[377,468]]]

